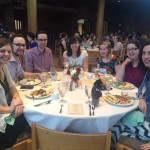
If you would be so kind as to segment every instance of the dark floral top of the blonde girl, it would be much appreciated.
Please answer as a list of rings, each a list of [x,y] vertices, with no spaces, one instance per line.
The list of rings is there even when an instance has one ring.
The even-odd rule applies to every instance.
[[[115,75],[116,74],[115,66],[120,64],[120,61],[117,57],[112,56],[111,60],[109,62],[105,63],[105,62],[103,62],[102,58],[99,57],[98,63],[99,63],[99,68],[104,68],[104,69],[106,69],[107,73]]]

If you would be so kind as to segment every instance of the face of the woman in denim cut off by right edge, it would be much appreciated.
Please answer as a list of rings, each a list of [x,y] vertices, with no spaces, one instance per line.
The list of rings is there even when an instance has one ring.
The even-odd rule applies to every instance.
[[[146,45],[142,51],[142,60],[144,65],[150,69],[150,45]]]

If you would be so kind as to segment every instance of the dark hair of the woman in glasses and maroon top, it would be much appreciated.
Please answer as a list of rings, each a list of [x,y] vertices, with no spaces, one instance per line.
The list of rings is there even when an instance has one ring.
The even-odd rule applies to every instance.
[[[139,49],[139,64],[138,64],[138,68],[140,70],[146,70],[146,67],[143,63],[143,60],[142,60],[142,51],[143,51],[143,48],[141,48],[141,44],[138,40],[130,40],[127,42],[126,46],[128,44],[134,44],[138,49]]]

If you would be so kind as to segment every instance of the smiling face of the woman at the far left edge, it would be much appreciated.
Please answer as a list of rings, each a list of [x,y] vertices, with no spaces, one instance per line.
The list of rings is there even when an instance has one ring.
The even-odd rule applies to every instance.
[[[11,46],[4,45],[0,48],[0,64],[7,64],[12,56]]]

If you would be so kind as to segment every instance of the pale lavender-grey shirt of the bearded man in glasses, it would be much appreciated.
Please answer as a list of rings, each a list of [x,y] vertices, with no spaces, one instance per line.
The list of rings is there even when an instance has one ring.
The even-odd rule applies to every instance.
[[[17,79],[21,80],[24,78],[24,70],[22,69],[21,62],[19,59],[16,60],[13,55],[8,63],[8,69],[15,82]]]

